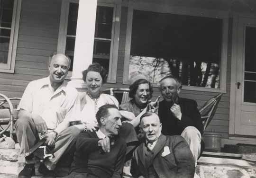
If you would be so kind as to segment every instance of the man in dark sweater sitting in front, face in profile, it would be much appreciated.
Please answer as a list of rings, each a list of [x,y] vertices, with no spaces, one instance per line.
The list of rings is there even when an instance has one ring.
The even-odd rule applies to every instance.
[[[126,143],[118,136],[122,125],[119,110],[103,105],[96,118],[98,131],[78,135],[72,173],[67,178],[121,178]]]

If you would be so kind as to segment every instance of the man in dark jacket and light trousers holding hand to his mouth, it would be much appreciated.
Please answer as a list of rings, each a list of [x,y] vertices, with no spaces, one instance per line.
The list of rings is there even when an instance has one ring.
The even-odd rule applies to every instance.
[[[158,115],[165,135],[181,135],[189,144],[195,165],[201,153],[203,125],[196,101],[180,98],[181,80],[166,76],[159,81],[159,90],[164,98],[159,103]]]

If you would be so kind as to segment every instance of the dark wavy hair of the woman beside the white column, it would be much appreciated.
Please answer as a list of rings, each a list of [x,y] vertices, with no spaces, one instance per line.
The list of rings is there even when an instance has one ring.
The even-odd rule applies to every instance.
[[[102,83],[107,82],[108,71],[106,69],[104,69],[104,67],[102,67],[101,64],[99,64],[97,62],[92,63],[91,65],[89,65],[89,67],[86,70],[82,71],[82,80],[83,81],[86,81],[86,76],[89,71],[99,72],[101,75],[101,78],[102,78]]]

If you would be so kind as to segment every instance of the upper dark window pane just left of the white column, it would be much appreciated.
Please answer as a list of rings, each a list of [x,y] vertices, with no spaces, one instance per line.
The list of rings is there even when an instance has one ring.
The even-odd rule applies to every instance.
[[[70,3],[69,4],[69,14],[68,14],[67,35],[75,36],[76,24],[77,24],[77,15],[78,15],[78,4]]]

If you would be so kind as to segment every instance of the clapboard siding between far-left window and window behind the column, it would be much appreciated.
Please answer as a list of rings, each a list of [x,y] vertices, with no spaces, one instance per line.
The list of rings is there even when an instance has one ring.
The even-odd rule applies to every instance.
[[[0,74],[0,93],[21,97],[28,82],[48,75],[56,51],[61,0],[22,0],[14,74]]]

